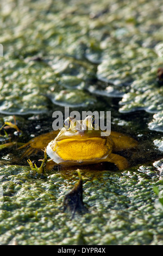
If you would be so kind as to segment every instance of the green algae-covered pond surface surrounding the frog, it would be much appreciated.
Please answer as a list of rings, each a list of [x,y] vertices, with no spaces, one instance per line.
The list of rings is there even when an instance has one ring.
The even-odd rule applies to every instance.
[[[1,245],[163,245],[161,6],[1,1]],[[130,167],[49,170],[46,151],[27,156],[65,106],[111,111],[111,130],[138,142],[118,153]]]

